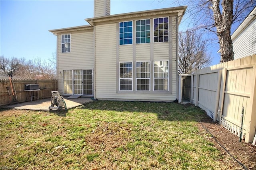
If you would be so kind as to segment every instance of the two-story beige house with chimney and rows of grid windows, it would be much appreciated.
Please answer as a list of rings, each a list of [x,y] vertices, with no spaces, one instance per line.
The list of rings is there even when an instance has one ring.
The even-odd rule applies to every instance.
[[[58,90],[104,100],[176,100],[185,10],[110,15],[110,0],[94,0],[90,25],[49,30],[57,36]]]

